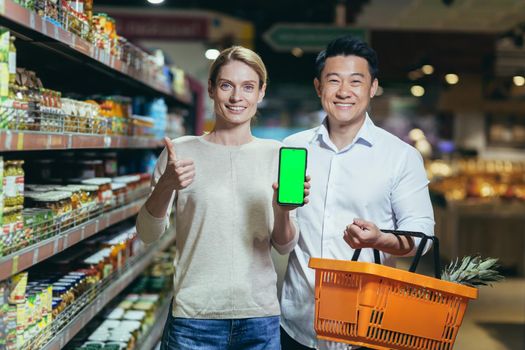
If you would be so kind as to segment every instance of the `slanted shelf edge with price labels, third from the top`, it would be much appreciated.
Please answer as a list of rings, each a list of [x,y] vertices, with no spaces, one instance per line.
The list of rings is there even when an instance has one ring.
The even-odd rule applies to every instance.
[[[137,214],[146,201],[136,200],[118,209],[101,214],[47,240],[0,258],[0,281],[60,253],[111,225]]]

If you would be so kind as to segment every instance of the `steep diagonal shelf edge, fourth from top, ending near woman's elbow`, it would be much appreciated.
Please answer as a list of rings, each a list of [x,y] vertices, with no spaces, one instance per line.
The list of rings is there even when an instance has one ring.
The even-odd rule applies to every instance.
[[[116,278],[108,284],[99,294],[85,307],[79,310],[70,322],[56,332],[53,337],[42,347],[41,350],[62,349],[73,337],[84,328],[102,308],[113,298],[121,293],[133,280],[135,280],[153,261],[155,253],[166,249],[175,239],[174,232],[163,235],[156,244],[147,246],[145,251],[138,254],[134,261],[128,265],[123,272],[118,272]],[[157,327],[155,327],[157,328]]]

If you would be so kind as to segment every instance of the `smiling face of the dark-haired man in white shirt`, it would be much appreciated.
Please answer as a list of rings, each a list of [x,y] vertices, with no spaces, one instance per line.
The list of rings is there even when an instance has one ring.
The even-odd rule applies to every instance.
[[[359,125],[365,119],[370,99],[377,90],[366,59],[334,56],[326,59],[321,78],[314,86],[332,126]]]

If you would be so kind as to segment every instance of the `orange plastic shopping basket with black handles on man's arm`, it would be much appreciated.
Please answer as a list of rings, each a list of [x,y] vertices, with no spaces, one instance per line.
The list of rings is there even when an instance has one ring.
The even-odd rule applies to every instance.
[[[315,269],[314,328],[320,339],[374,349],[450,350],[469,299],[478,290],[442,281],[439,241],[420,232],[382,230],[421,237],[409,271],[352,261],[311,258]],[[436,278],[415,273],[431,239]]]

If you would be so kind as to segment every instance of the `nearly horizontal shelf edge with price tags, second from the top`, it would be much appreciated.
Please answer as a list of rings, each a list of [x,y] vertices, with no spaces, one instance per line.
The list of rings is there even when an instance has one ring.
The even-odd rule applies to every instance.
[[[87,135],[40,131],[0,131],[0,152],[62,149],[156,148],[162,141],[144,136]]]

